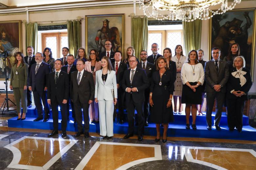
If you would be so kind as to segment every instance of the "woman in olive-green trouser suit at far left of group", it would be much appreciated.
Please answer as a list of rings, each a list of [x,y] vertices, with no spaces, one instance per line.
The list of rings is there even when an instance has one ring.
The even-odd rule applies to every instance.
[[[21,52],[15,53],[15,62],[11,67],[11,82],[10,89],[13,89],[18,119],[25,120],[27,113],[27,87],[28,87],[28,64],[24,61],[24,56]],[[23,114],[21,117],[21,102],[23,106]]]

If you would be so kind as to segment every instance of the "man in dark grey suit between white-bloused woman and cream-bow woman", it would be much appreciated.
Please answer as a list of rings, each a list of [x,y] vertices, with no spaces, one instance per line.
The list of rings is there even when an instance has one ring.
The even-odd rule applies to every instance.
[[[216,111],[214,118],[214,126],[217,130],[221,130],[219,126],[223,102],[225,100],[226,83],[229,77],[228,64],[220,59],[221,50],[217,47],[212,49],[211,60],[205,63],[204,77],[205,77],[205,92],[206,92],[206,121],[207,129],[212,128],[212,108],[216,98]]]

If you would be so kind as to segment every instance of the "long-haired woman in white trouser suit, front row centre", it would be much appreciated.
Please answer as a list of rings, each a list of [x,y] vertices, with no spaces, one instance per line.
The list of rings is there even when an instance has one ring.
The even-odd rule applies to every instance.
[[[108,57],[102,57],[101,66],[102,69],[96,71],[95,102],[99,105],[100,135],[103,139],[110,139],[114,136],[113,113],[117,103],[117,80]]]

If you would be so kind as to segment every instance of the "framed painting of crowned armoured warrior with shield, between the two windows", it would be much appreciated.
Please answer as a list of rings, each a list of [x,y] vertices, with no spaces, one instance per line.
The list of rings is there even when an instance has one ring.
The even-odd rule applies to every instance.
[[[98,53],[106,51],[105,42],[110,41],[112,51],[124,48],[124,14],[85,16],[85,47],[89,56],[91,49]]]

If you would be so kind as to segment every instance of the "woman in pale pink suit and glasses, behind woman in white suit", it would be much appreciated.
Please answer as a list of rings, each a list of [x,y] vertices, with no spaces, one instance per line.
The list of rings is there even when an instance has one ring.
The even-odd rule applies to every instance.
[[[96,71],[101,69],[101,62],[99,61],[98,53],[95,49],[92,49],[89,54],[89,59],[88,61],[85,62],[85,67],[84,69],[90,73],[93,74],[93,80],[94,80],[94,85],[95,85],[95,73]],[[90,104],[89,107],[89,117],[90,117],[90,123],[92,123],[94,120],[96,122],[99,121],[99,107],[98,103],[93,102]]]

